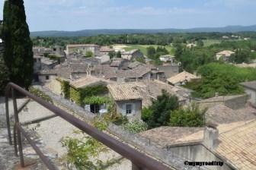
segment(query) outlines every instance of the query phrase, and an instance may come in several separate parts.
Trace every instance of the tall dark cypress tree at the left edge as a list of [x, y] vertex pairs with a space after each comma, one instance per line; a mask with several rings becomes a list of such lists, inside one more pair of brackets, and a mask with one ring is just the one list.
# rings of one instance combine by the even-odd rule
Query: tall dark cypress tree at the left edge
[[23, 0], [5, 0], [3, 39], [10, 80], [21, 87], [29, 87], [33, 79], [33, 44]]

